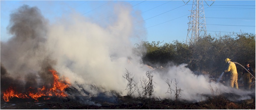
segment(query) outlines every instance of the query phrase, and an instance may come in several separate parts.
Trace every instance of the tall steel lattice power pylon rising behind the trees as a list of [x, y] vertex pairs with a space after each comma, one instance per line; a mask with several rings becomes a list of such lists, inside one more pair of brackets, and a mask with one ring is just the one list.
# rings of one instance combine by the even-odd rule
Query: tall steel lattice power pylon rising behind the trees
[[204, 18], [204, 5], [202, 0], [194, 0], [192, 5], [192, 10], [190, 20], [189, 20], [189, 29], [187, 34], [186, 43], [195, 44], [198, 39], [202, 36], [207, 36], [206, 24]]

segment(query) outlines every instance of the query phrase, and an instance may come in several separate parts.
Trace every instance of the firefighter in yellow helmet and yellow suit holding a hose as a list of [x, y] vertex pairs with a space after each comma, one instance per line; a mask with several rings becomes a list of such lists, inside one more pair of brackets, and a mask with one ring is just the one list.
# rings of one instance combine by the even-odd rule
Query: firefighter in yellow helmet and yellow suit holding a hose
[[234, 62], [231, 62], [230, 60], [231, 59], [229, 59], [229, 58], [225, 59], [225, 62], [228, 63], [229, 66], [224, 72], [226, 73], [226, 72], [230, 71], [230, 83], [229, 83], [229, 85], [230, 85], [230, 87], [233, 88], [234, 84], [235, 84], [236, 89], [238, 89], [236, 64]]

